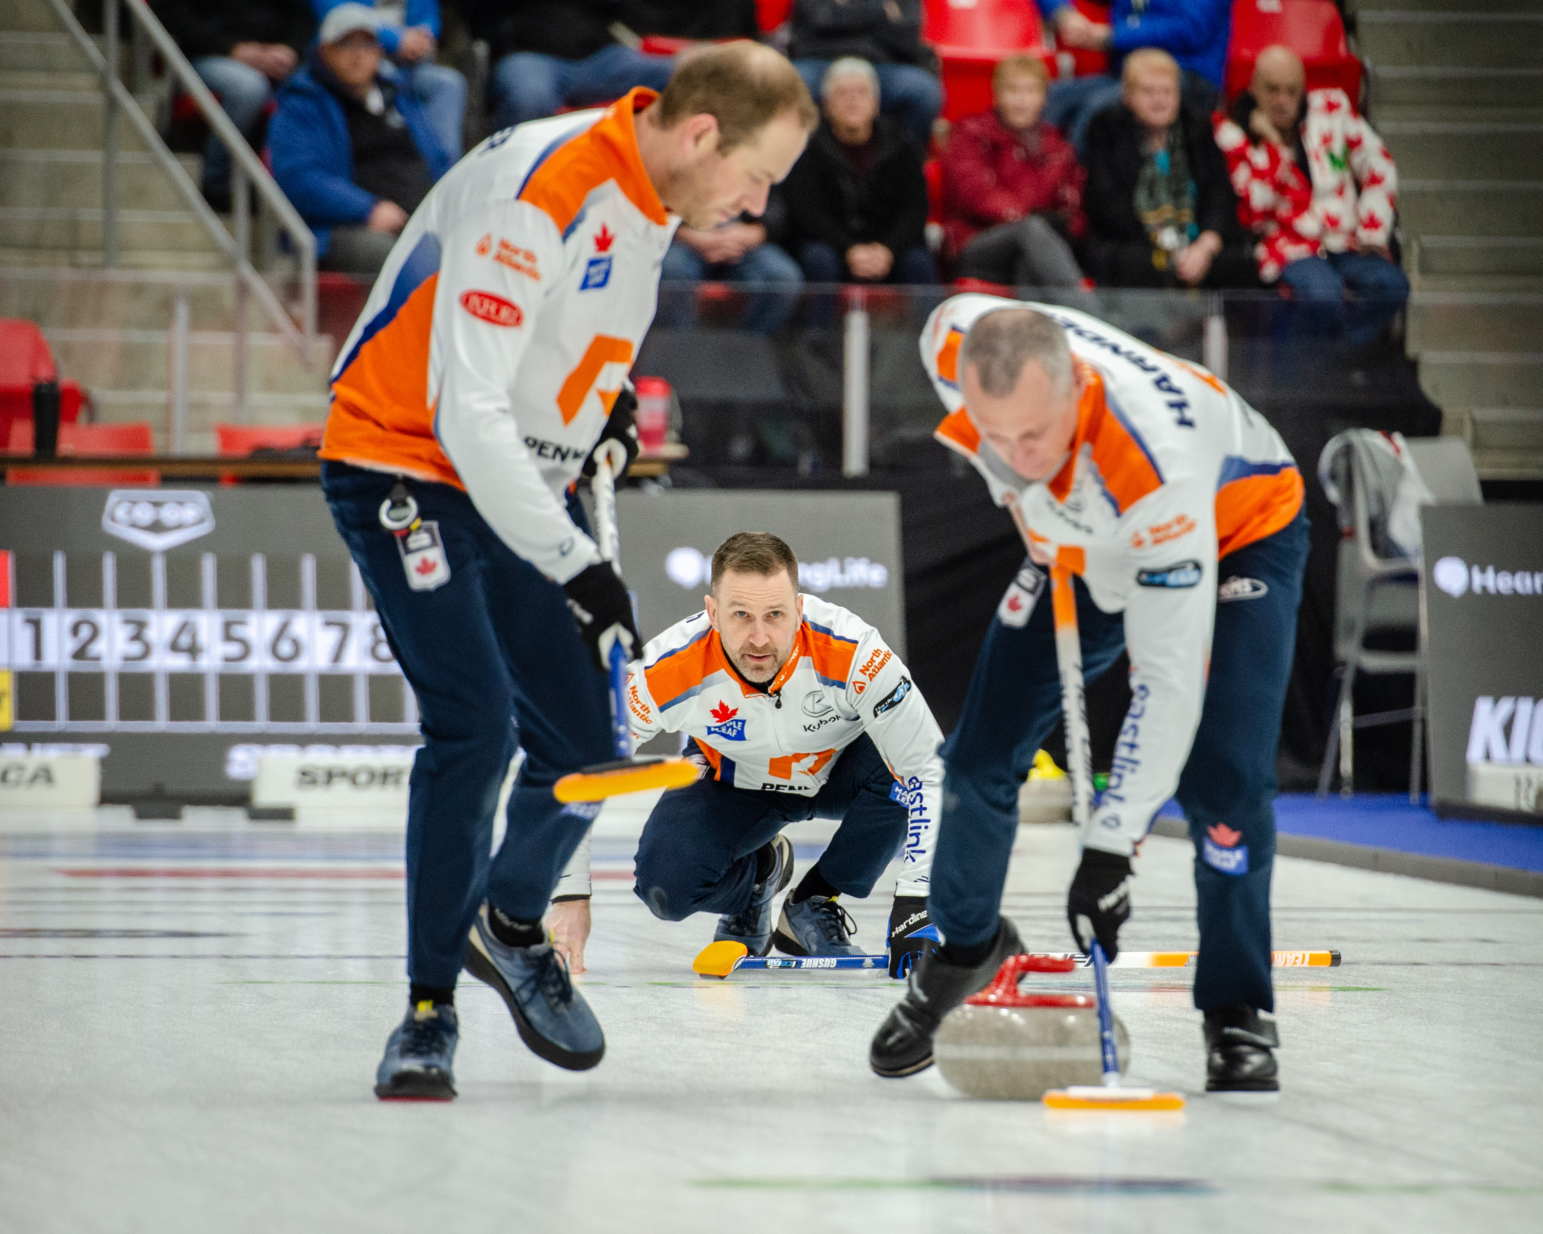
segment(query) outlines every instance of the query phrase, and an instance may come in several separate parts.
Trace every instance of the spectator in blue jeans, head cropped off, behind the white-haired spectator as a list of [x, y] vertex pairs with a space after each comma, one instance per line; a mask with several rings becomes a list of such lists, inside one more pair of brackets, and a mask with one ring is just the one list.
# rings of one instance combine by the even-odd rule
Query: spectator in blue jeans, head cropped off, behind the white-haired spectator
[[943, 110], [943, 83], [921, 43], [921, 0], [795, 0], [788, 57], [809, 93], [819, 91], [833, 60], [856, 57], [878, 74], [886, 116], [926, 150]]

